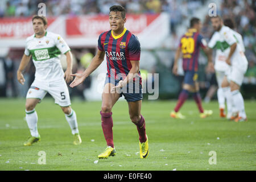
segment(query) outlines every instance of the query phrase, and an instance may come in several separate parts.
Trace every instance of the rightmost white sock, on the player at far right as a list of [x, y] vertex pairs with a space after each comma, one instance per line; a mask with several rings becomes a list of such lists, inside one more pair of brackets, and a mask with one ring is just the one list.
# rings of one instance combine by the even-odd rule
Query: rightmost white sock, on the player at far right
[[233, 101], [233, 112], [239, 112], [239, 116], [242, 118], [246, 118], [245, 114], [245, 103], [243, 101], [243, 96], [239, 90], [234, 90], [232, 93], [232, 101]]

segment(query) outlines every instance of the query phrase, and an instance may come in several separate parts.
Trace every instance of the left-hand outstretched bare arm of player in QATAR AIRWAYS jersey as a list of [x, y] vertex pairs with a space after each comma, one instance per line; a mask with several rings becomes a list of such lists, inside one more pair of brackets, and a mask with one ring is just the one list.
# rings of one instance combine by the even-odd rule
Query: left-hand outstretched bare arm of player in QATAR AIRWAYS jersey
[[71, 74], [71, 76], [75, 76], [75, 79], [69, 85], [71, 88], [74, 88], [77, 85], [80, 85], [86, 77], [90, 75], [104, 60], [105, 52], [98, 50], [96, 55], [93, 57], [92, 62], [90, 63], [89, 67], [85, 69], [83, 73], [75, 73]]

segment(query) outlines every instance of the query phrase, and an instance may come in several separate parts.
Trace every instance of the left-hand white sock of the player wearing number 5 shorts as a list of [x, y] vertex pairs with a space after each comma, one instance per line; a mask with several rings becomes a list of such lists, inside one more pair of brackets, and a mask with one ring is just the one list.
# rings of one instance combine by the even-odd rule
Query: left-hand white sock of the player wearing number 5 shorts
[[39, 137], [38, 114], [36, 113], [35, 109], [30, 111], [26, 110], [26, 121], [32, 137]]

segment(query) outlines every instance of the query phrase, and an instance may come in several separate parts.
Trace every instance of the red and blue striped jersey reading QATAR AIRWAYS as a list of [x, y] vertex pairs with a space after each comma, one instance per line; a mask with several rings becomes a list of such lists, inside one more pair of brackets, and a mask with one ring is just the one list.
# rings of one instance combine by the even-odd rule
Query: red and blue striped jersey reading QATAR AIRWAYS
[[[128, 75], [131, 69], [131, 61], [139, 61], [141, 57], [141, 44], [137, 36], [131, 34], [126, 28], [122, 34], [114, 36], [112, 30], [103, 32], [98, 38], [98, 49], [105, 51], [108, 73], [110, 77], [114, 73], [115, 80], [121, 80]], [[141, 72], [139, 72], [141, 84]]]

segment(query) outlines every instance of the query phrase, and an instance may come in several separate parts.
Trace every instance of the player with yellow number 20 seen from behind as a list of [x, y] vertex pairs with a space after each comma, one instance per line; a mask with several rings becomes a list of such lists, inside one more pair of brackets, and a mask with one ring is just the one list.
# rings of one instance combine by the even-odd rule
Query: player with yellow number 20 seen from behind
[[197, 107], [200, 112], [200, 118], [208, 117], [212, 114], [212, 110], [204, 110], [201, 104], [201, 96], [199, 93], [199, 83], [197, 81], [197, 71], [198, 71], [198, 58], [199, 58], [199, 48], [203, 48], [204, 52], [208, 57], [208, 66], [213, 67], [212, 59], [209, 54], [209, 49], [207, 48], [207, 42], [203, 39], [200, 34], [201, 21], [198, 18], [192, 18], [190, 20], [190, 28], [181, 37], [180, 45], [177, 48], [173, 73], [177, 75], [177, 62], [179, 60], [180, 54], [182, 52], [183, 58], [183, 69], [184, 69], [184, 81], [183, 90], [179, 95], [179, 100], [174, 111], [171, 111], [172, 118], [184, 119], [185, 116], [179, 112], [181, 106], [187, 100], [189, 93], [193, 94], [193, 98], [196, 101]]

